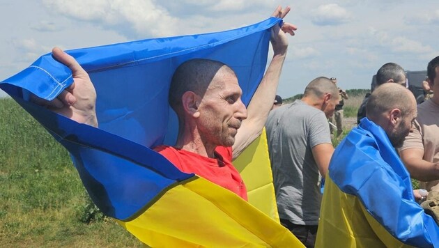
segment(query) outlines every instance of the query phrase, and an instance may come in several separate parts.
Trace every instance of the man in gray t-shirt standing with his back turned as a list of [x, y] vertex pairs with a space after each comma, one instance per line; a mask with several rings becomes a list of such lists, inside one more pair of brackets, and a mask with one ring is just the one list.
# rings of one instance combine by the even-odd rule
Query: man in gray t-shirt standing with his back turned
[[314, 247], [321, 176], [334, 151], [328, 118], [338, 102], [337, 86], [318, 77], [301, 100], [272, 110], [265, 124], [281, 223], [307, 247]]

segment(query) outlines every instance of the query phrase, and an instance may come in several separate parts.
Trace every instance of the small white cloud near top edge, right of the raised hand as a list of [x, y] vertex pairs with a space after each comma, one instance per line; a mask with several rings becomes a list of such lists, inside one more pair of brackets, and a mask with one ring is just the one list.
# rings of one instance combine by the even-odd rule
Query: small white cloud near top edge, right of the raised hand
[[351, 20], [351, 14], [348, 13], [348, 10], [337, 3], [318, 6], [312, 14], [314, 15], [311, 17], [312, 22], [318, 26], [339, 25]]

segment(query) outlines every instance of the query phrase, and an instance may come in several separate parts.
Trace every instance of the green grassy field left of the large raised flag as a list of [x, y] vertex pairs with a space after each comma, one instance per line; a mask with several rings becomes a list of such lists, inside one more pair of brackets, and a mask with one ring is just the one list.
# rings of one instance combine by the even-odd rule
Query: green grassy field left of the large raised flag
[[94, 206], [67, 151], [0, 98], [0, 246], [142, 247]]

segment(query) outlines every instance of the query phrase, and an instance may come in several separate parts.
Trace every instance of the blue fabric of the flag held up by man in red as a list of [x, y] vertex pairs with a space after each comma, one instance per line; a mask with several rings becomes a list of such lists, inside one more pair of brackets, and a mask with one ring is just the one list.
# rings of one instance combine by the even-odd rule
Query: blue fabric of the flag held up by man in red
[[271, 17], [231, 31], [66, 51], [89, 73], [96, 88], [99, 129], [26, 100], [28, 91], [53, 100], [72, 84], [71, 71], [51, 54], [4, 80], [0, 88], [69, 150], [100, 210], [127, 220], [169, 187], [194, 177], [150, 149], [176, 139], [178, 122], [168, 104], [174, 70], [188, 59], [222, 61], [235, 70], [242, 101], [248, 104], [265, 71], [270, 28], [280, 22]]

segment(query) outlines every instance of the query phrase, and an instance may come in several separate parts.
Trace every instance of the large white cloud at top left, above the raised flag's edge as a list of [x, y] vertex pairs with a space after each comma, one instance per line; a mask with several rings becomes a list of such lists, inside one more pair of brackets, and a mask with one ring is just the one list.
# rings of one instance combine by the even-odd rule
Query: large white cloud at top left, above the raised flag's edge
[[178, 19], [152, 0], [44, 0], [47, 8], [107, 29], [120, 29], [131, 38], [171, 36], [178, 33]]

